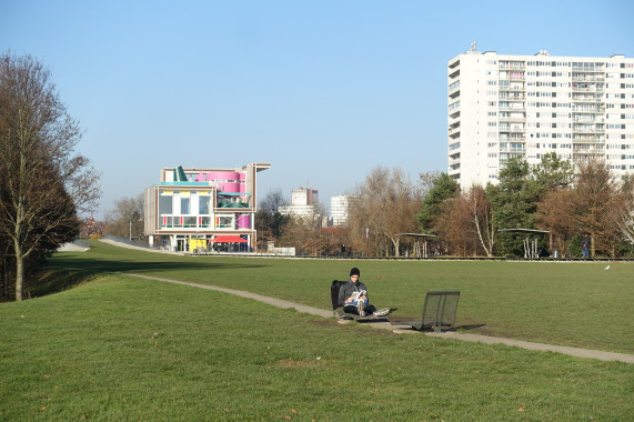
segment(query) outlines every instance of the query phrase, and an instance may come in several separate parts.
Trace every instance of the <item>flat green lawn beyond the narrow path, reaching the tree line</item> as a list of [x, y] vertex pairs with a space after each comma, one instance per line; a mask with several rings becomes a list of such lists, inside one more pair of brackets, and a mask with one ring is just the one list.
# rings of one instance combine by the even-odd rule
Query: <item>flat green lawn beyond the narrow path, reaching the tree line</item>
[[456, 323], [470, 332], [634, 352], [634, 264], [605, 262], [359, 261], [180, 257], [93, 242], [54, 268], [124, 271], [239, 289], [330, 309], [330, 283], [350, 268], [392, 320], [416, 320], [429, 290], [461, 290]]

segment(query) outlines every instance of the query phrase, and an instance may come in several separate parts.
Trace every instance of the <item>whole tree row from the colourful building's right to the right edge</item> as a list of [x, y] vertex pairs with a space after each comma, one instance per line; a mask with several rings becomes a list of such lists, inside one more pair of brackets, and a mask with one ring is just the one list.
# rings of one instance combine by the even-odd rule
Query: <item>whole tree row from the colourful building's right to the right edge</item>
[[[282, 217], [281, 192], [262, 201], [259, 237], [300, 253], [333, 254], [344, 250], [395, 255], [414, 249], [415, 237], [434, 235], [429, 250], [460, 257], [522, 257], [525, 234], [502, 229], [545, 231], [540, 255], [558, 251], [580, 255], [584, 237], [591, 255], [632, 253], [634, 183], [616, 181], [602, 160], [575, 163], [545, 154], [539, 165], [511, 159], [500, 183], [461, 190], [446, 173], [430, 172], [412, 181], [401, 169], [375, 168], [352, 192], [348, 224], [324, 230], [321, 219]], [[344, 249], [345, 247], [345, 249]]]

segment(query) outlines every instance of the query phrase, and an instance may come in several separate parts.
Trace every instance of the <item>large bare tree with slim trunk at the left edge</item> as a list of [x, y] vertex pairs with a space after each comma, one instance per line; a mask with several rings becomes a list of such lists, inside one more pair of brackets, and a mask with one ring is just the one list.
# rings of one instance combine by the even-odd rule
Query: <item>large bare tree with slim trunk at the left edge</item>
[[47, 242], [68, 240], [77, 215], [97, 205], [99, 177], [74, 154], [80, 139], [49, 70], [29, 56], [0, 56], [0, 228], [14, 255], [16, 300], [24, 260]]

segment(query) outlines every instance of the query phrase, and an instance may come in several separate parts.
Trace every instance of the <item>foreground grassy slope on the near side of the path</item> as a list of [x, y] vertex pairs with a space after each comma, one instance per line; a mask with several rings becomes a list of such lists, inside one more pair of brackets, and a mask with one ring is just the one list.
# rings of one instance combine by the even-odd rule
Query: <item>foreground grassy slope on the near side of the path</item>
[[339, 325], [124, 275], [2, 304], [0, 320], [0, 420], [622, 421], [634, 411], [630, 364]]

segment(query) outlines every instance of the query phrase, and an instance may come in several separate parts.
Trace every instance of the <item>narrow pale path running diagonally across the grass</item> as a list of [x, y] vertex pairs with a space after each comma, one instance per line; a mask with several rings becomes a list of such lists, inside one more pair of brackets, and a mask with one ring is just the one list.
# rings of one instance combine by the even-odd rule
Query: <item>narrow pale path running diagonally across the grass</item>
[[[290, 301], [283, 300], [283, 299], [264, 297], [262, 294], [245, 292], [242, 290], [218, 288], [214, 285], [190, 283], [187, 281], [161, 279], [158, 277], [140, 275], [140, 274], [132, 274], [132, 273], [124, 273], [124, 272], [122, 272], [120, 274], [137, 277], [137, 278], [141, 278], [141, 279], [147, 279], [147, 280], [163, 281], [163, 282], [173, 283], [173, 284], [190, 285], [192, 288], [199, 288], [199, 289], [214, 290], [214, 291], [219, 291], [219, 292], [234, 294], [234, 295], [238, 295], [241, 298], [253, 299], [253, 300], [256, 300], [259, 302], [263, 302], [263, 303], [266, 303], [266, 304], [270, 304], [273, 307], [278, 307], [278, 308], [282, 308], [282, 309], [294, 309], [298, 312], [309, 313], [309, 314], [318, 315], [321, 318], [334, 318], [332, 311], [326, 311], [326, 310], [319, 309], [319, 308], [299, 304], [299, 303], [290, 302]], [[341, 321], [341, 322], [343, 322], [343, 321]], [[345, 321], [345, 322], [349, 322], [349, 321]], [[395, 333], [417, 333], [417, 334], [421, 334], [420, 331], [406, 329], [404, 325], [392, 325], [390, 322], [364, 322], [364, 325], [371, 325], [371, 326], [376, 328], [376, 329], [390, 330], [390, 331], [395, 332]], [[626, 353], [612, 353], [612, 352], [603, 352], [600, 350], [570, 348], [570, 346], [543, 344], [543, 343], [532, 343], [532, 342], [521, 341], [521, 340], [501, 339], [501, 338], [494, 338], [494, 336], [489, 336], [489, 335], [479, 335], [479, 334], [465, 334], [465, 333], [457, 333], [457, 332], [453, 332], [453, 331], [443, 332], [443, 333], [425, 332], [424, 335], [437, 336], [437, 338], [451, 339], [451, 340], [471, 341], [471, 342], [486, 343], [486, 344], [506, 344], [509, 346], [514, 346], [514, 348], [522, 348], [522, 349], [537, 350], [537, 351], [549, 351], [549, 352], [555, 352], [555, 353], [564, 353], [564, 354], [570, 354], [572, 356], [597, 359], [601, 361], [620, 361], [620, 362], [626, 362], [626, 363], [634, 363], [634, 354], [626, 354]]]

